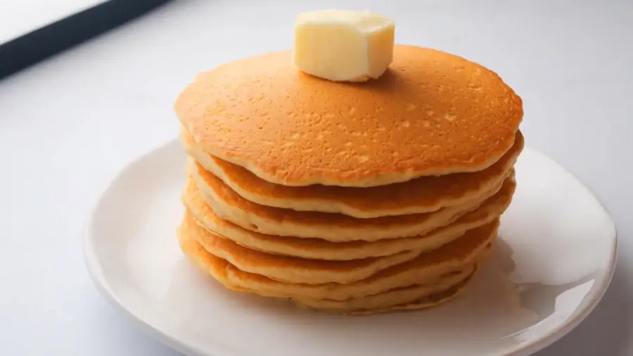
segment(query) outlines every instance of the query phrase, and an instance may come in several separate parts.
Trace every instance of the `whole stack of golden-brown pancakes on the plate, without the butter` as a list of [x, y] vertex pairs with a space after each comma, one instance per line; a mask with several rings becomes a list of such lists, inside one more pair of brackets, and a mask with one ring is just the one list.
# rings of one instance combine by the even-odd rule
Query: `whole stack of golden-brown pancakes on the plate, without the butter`
[[226, 288], [319, 310], [459, 294], [511, 203], [520, 98], [481, 65], [416, 46], [359, 84], [299, 72], [291, 56], [221, 65], [177, 99], [181, 249]]

